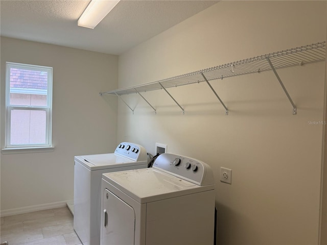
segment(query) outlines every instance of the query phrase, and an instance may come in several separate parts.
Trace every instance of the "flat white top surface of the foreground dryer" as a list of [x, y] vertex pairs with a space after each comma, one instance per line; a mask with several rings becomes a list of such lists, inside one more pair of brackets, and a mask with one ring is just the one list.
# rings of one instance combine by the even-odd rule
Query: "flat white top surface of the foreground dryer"
[[154, 168], [106, 173], [102, 178], [141, 204], [214, 189], [214, 185], [200, 186]]

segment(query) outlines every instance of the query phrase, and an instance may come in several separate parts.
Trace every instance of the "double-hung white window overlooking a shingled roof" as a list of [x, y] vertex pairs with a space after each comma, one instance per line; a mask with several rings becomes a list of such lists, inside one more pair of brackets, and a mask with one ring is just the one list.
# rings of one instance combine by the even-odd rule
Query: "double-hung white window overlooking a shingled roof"
[[6, 148], [51, 146], [52, 67], [6, 63]]

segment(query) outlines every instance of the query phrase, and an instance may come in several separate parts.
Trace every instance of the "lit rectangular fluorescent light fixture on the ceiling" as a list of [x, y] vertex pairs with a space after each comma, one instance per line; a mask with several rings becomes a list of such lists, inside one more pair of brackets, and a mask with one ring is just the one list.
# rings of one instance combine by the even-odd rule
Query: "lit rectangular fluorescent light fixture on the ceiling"
[[91, 0], [77, 21], [77, 26], [94, 29], [120, 0]]

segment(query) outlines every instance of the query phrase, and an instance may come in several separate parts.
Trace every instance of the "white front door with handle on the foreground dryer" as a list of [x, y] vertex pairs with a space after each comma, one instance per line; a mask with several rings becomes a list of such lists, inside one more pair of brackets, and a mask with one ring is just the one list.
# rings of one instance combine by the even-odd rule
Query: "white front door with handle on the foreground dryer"
[[104, 191], [101, 245], [133, 245], [135, 231], [134, 209], [111, 193]]

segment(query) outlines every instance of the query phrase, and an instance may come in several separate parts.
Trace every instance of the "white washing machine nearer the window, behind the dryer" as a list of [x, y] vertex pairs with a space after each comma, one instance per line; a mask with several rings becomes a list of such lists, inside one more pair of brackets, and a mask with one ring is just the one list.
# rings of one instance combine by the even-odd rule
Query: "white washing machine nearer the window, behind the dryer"
[[147, 166], [145, 148], [130, 142], [120, 143], [114, 153], [75, 156], [74, 229], [84, 245], [100, 244], [102, 174]]

